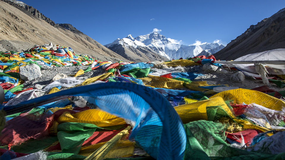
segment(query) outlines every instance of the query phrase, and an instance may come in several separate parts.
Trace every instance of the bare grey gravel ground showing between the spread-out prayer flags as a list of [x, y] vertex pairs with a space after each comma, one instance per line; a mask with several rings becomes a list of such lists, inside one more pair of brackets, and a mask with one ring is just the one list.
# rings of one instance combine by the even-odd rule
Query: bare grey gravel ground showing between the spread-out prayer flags
[[[34, 79], [32, 81], [25, 81], [24, 83], [24, 89], [29, 88], [29, 87], [34, 87], [35, 84], [40, 84], [40, 85], [48, 85], [50, 84], [50, 81], [52, 80], [52, 78], [57, 74], [57, 73], [64, 73], [66, 74], [68, 77], [73, 77], [72, 75], [74, 75], [75, 73], [77, 73], [77, 71], [79, 71], [80, 69], [85, 70], [86, 68], [88, 68], [88, 66], [62, 66], [62, 67], [51, 67], [51, 68], [42, 68], [41, 69], [41, 73], [42, 73], [42, 77], [39, 77], [37, 79]], [[205, 71], [202, 70], [202, 65], [200, 66], [194, 66], [194, 67], [183, 67], [184, 71], [187, 72], [192, 72], [192, 71], [196, 71], [195, 73], [201, 73], [204, 76], [199, 76], [196, 79], [194, 79], [193, 81], [207, 81], [208, 84], [213, 84], [213, 85], [229, 85], [229, 87], [239, 87], [239, 88], [244, 88], [244, 89], [250, 89], [250, 88], [256, 88], [256, 87], [261, 87], [264, 86], [264, 84], [262, 83], [262, 80], [259, 79], [253, 79], [251, 77], [246, 77], [245, 81], [243, 82], [234, 82], [231, 81], [231, 75], [236, 73], [237, 71], [234, 70], [230, 70], [229, 73], [216, 73], [216, 72], [212, 72], [212, 73], [207, 73]], [[104, 69], [96, 69], [96, 70], [92, 70], [90, 72], [84, 73], [83, 75], [77, 76], [77, 79], [80, 80], [85, 80], [94, 76], [98, 76], [105, 73]], [[277, 78], [278, 80], [282, 80], [281, 78]], [[276, 84], [274, 83], [270, 83], [269, 86], [270, 89], [273, 89], [275, 91], [282, 91], [284, 89], [278, 87]], [[62, 89], [66, 89], [66, 87], [62, 87]], [[61, 89], [61, 90], [62, 90]]]

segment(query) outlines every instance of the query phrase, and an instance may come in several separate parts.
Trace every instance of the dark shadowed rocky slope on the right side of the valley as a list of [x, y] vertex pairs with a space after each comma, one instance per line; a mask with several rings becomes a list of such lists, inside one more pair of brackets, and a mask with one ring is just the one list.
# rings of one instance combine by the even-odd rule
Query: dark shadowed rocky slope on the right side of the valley
[[221, 60], [235, 60], [251, 53], [285, 48], [285, 8], [232, 40], [214, 56]]

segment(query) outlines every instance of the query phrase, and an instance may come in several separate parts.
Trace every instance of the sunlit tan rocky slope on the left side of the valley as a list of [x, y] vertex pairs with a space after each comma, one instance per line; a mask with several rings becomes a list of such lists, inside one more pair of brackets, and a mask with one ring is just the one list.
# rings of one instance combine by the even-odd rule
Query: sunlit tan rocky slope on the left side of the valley
[[[38, 45], [52, 42], [69, 46], [77, 54], [92, 55], [99, 60], [128, 61], [82, 32], [74, 33], [55, 24], [38, 10], [20, 1], [0, 1], [0, 23], [0, 40]], [[8, 50], [17, 51], [12, 47]]]

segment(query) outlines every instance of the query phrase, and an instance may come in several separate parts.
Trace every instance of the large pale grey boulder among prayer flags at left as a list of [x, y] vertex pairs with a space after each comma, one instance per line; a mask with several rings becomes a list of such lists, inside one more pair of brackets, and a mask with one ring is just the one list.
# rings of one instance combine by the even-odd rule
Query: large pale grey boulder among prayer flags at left
[[42, 76], [39, 66], [33, 63], [24, 67], [19, 67], [19, 73], [20, 78], [24, 81], [31, 81]]

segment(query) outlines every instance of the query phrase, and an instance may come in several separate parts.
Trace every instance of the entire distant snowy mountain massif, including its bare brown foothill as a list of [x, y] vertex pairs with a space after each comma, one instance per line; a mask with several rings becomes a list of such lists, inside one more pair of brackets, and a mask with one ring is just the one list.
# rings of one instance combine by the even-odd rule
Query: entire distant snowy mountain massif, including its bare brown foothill
[[137, 36], [128, 35], [123, 39], [116, 39], [113, 43], [104, 45], [113, 52], [131, 60], [171, 60], [195, 57], [197, 55], [212, 55], [225, 46], [219, 43], [203, 43], [201, 45], [180, 45], [172, 43], [165, 36], [153, 33]]

